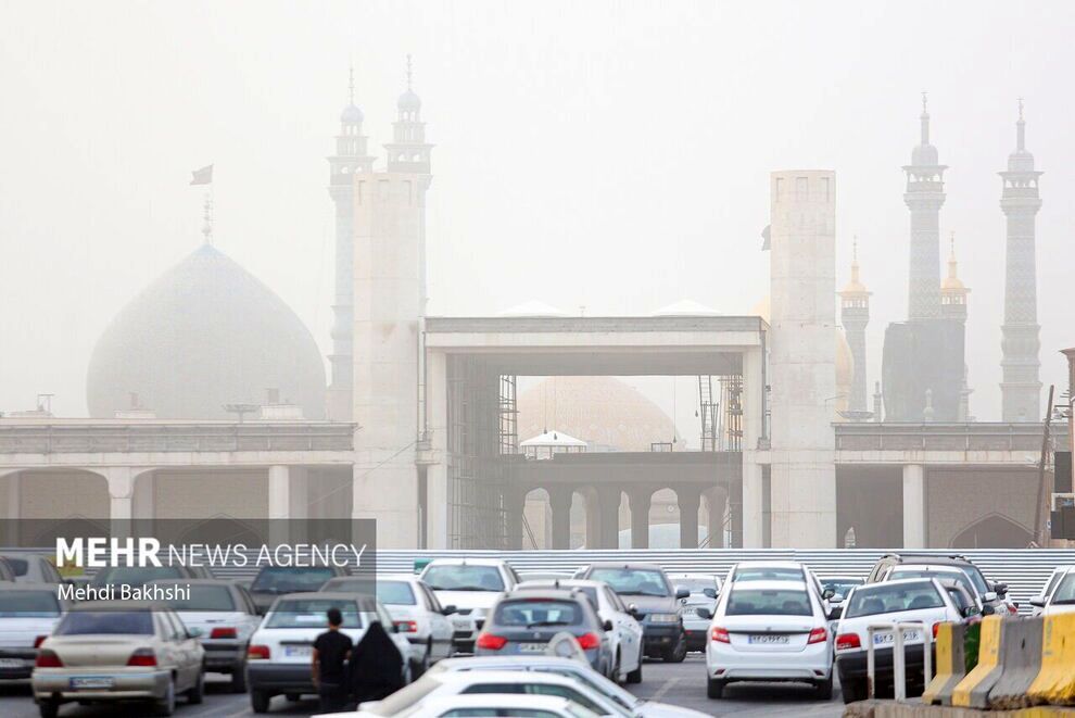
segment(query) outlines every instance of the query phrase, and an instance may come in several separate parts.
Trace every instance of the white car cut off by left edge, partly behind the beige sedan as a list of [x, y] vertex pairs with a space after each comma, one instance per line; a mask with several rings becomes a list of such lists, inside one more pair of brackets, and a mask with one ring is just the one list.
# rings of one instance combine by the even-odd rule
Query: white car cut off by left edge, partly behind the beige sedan
[[71, 609], [52, 583], [0, 583], [0, 680], [30, 677], [37, 646]]

